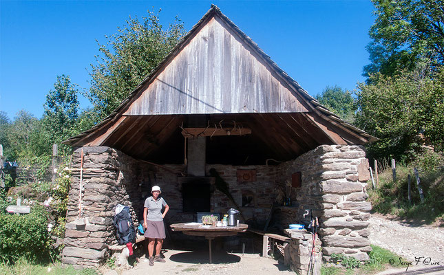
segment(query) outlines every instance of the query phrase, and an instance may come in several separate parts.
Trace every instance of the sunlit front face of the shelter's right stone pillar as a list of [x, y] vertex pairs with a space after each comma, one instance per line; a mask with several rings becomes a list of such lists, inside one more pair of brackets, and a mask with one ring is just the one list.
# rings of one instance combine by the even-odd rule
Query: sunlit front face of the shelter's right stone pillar
[[368, 159], [362, 146], [322, 146], [320, 188], [323, 213], [321, 241], [324, 259], [333, 253], [369, 259], [368, 219], [372, 208], [366, 192], [370, 179]]

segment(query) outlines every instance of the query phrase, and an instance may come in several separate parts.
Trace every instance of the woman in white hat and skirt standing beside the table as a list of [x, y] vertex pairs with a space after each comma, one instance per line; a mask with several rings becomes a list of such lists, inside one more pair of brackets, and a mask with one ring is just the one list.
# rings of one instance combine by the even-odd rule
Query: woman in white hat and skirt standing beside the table
[[[165, 199], [159, 197], [160, 187], [153, 186], [151, 188], [151, 197], [145, 199], [143, 208], [143, 227], [145, 228], [145, 238], [148, 238], [148, 254], [149, 265], [153, 266], [154, 262], [165, 263], [165, 260], [160, 256], [162, 250], [163, 239], [165, 239], [165, 225], [163, 225], [163, 218], [169, 210]], [[165, 207], [162, 213], [162, 207]], [[156, 243], [156, 256], [153, 257], [154, 244]]]

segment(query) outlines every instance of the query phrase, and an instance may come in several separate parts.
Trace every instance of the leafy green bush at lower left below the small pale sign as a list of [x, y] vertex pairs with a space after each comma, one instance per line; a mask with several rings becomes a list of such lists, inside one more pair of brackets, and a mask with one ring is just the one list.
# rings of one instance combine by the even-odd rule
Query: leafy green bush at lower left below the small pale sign
[[34, 206], [30, 214], [0, 215], [0, 261], [14, 263], [20, 257], [48, 259], [52, 240], [47, 232], [47, 211]]

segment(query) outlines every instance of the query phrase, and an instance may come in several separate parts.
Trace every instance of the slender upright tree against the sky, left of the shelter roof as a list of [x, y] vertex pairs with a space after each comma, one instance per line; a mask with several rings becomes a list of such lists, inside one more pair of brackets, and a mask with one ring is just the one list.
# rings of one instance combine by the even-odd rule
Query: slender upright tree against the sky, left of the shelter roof
[[78, 119], [78, 90], [71, 83], [70, 77], [57, 76], [54, 83], [54, 90], [50, 90], [46, 95], [46, 102], [43, 117], [45, 140], [47, 141], [47, 151], [51, 152], [53, 143], [59, 144], [62, 152], [68, 153], [70, 148], [62, 145], [61, 142], [76, 133]]

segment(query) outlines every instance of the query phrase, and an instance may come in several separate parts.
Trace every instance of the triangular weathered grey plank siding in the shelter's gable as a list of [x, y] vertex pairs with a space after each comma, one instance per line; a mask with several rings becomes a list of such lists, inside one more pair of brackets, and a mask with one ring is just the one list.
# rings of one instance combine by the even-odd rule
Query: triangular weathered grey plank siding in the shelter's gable
[[213, 17], [125, 115], [306, 112], [288, 85]]

